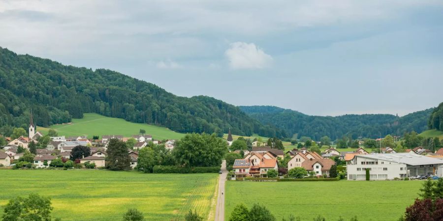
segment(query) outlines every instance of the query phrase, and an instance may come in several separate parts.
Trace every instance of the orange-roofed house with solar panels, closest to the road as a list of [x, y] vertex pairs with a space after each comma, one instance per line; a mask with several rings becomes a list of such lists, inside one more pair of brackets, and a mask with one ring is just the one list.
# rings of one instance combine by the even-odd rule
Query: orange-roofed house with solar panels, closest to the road
[[269, 169], [278, 170], [276, 159], [261, 158], [259, 161], [254, 159], [236, 159], [232, 166], [234, 175], [232, 178], [240, 178], [245, 176], [266, 176]]

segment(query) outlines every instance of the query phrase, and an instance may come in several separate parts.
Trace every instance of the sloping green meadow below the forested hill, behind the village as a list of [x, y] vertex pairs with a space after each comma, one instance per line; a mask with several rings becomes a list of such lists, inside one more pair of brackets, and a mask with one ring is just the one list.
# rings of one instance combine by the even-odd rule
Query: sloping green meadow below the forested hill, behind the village
[[[88, 136], [94, 135], [123, 135], [130, 137], [138, 134], [140, 129], [144, 129], [146, 134], [152, 135], [154, 139], [180, 139], [184, 134], [171, 131], [164, 127], [148, 124], [132, 123], [124, 119], [106, 117], [96, 113], [85, 113], [81, 119], [72, 119], [71, 124], [52, 125], [60, 136]], [[37, 131], [47, 131], [45, 128], [37, 128]]]

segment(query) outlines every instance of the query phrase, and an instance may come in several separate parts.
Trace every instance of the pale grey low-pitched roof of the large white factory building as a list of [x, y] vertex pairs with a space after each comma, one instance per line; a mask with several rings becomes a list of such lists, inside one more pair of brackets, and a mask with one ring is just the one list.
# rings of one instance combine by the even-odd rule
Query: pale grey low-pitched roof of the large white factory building
[[443, 164], [442, 160], [435, 159], [432, 157], [422, 156], [422, 155], [418, 155], [418, 154], [414, 154], [414, 153], [365, 154], [365, 155], [356, 155], [355, 157], [390, 161], [390, 162], [395, 162], [395, 163], [407, 164], [407, 165], [411, 165], [411, 166]]

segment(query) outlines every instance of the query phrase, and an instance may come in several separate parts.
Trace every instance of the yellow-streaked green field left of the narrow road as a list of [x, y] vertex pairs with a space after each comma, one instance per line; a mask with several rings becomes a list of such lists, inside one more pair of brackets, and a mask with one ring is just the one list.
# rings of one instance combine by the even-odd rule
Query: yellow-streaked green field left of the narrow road
[[146, 220], [183, 220], [190, 209], [214, 217], [218, 175], [0, 169], [0, 216], [10, 198], [39, 193], [63, 221], [120, 221], [128, 208]]

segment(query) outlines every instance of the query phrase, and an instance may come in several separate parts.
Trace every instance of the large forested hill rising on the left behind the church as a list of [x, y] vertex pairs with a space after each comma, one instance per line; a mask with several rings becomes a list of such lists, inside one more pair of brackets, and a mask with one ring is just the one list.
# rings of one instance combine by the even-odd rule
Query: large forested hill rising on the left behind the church
[[37, 126], [95, 112], [176, 132], [221, 134], [231, 128], [238, 135], [284, 136], [214, 98], [179, 97], [115, 71], [66, 66], [0, 48], [0, 134], [10, 134], [11, 126], [27, 128], [31, 108]]

